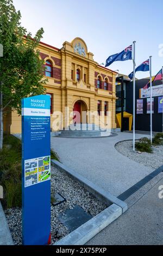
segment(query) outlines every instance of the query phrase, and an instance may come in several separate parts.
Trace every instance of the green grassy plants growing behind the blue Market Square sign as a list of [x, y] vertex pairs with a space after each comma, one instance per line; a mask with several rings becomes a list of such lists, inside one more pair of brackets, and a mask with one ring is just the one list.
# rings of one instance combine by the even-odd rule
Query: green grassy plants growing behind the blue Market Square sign
[[[51, 159], [59, 161], [51, 150]], [[12, 135], [4, 135], [3, 150], [0, 152], [0, 185], [3, 186], [5, 209], [22, 205], [22, 143]]]

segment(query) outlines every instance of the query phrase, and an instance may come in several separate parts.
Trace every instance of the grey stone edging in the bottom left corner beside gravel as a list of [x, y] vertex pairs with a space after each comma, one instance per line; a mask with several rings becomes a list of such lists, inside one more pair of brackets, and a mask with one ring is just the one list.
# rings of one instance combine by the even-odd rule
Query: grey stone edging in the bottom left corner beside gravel
[[0, 245], [14, 245], [8, 222], [0, 201]]

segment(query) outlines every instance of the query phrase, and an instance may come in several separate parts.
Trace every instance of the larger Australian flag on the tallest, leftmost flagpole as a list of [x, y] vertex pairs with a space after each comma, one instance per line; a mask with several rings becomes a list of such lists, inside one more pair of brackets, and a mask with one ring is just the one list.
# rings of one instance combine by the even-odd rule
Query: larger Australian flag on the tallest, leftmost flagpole
[[108, 59], [106, 59], [105, 66], [109, 66], [113, 62], [117, 62], [118, 60], [121, 62], [124, 62], [124, 60], [132, 59], [132, 51], [133, 51], [133, 46], [130, 45], [126, 49], [124, 49], [122, 52], [109, 56]]

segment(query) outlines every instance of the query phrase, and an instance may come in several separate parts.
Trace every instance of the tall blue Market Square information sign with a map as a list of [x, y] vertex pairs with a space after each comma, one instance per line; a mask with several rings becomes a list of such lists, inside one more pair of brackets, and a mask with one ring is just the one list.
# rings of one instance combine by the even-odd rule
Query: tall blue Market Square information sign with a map
[[51, 240], [50, 96], [22, 99], [23, 245]]

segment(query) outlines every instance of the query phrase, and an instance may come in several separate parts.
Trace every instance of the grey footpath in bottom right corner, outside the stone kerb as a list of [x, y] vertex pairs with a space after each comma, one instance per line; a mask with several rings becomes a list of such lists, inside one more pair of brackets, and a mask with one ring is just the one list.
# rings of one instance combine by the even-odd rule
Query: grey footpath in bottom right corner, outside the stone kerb
[[87, 245], [163, 245], [163, 198], [158, 195], [161, 185], [163, 178]]

